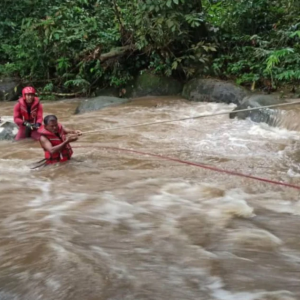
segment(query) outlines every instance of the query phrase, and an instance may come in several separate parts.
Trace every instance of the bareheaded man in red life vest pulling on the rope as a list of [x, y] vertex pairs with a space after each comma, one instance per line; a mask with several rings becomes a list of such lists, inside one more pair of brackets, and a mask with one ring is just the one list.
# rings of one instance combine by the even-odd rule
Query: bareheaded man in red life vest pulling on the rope
[[[77, 141], [80, 130], [64, 128], [54, 115], [46, 116], [44, 125], [38, 130], [40, 144], [45, 151], [46, 164], [64, 162], [71, 159], [73, 150], [70, 143]], [[66, 134], [71, 134], [66, 136]]]

